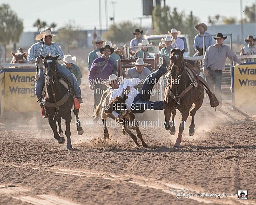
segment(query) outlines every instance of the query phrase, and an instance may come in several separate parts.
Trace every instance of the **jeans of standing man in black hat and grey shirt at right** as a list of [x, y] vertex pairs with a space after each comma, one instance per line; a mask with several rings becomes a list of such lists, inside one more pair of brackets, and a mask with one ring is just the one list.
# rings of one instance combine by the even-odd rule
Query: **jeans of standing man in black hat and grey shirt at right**
[[222, 71], [221, 70], [209, 70], [209, 76], [205, 76], [206, 81], [211, 89], [211, 92], [216, 94], [219, 103], [222, 104]]

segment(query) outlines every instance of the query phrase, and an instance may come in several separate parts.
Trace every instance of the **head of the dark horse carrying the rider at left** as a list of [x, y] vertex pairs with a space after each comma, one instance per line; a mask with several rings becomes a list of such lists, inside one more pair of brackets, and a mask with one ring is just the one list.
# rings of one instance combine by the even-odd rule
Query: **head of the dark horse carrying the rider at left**
[[54, 83], [55, 78], [57, 76], [58, 68], [56, 64], [56, 60], [60, 55], [55, 57], [47, 54], [45, 57], [41, 55], [41, 59], [43, 60], [43, 68], [44, 68], [44, 77], [46, 83]]

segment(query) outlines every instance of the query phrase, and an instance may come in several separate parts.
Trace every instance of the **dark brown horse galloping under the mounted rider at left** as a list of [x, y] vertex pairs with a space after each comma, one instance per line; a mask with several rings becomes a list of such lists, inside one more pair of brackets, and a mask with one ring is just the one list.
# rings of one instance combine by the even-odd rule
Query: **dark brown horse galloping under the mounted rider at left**
[[[45, 77], [45, 88], [43, 91], [43, 104], [45, 111], [48, 113], [49, 118], [48, 122], [54, 132], [54, 138], [58, 141], [59, 144], [65, 142], [63, 132], [61, 129], [61, 118], [66, 121], [66, 130], [65, 135], [67, 136], [67, 149], [72, 149], [71, 145], [71, 132], [70, 132], [70, 123], [71, 123], [71, 109], [73, 106], [73, 98], [70, 91], [70, 86], [65, 84], [63, 80], [58, 79], [57, 77], [57, 63], [55, 60], [59, 56], [52, 57], [49, 54], [46, 57], [41, 56], [43, 59], [43, 69]], [[81, 123], [78, 119], [78, 111], [74, 112], [76, 115], [76, 126], [78, 134], [83, 134], [83, 129], [81, 128]], [[59, 132], [57, 132], [56, 121], [59, 125]], [[61, 135], [61, 136], [60, 136]]]

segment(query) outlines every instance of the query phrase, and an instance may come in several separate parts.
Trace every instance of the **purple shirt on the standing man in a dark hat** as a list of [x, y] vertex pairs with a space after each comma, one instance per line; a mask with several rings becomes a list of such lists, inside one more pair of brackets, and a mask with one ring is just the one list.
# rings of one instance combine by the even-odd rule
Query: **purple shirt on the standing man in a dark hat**
[[[111, 59], [108, 59], [108, 65], [96, 66], [95, 64], [105, 61], [104, 58], [99, 57], [96, 58], [91, 66], [89, 71], [89, 84], [92, 82], [99, 84], [101, 80], [108, 79], [109, 75], [113, 74], [114, 72], [114, 62]], [[104, 70], [102, 71], [103, 67], [105, 66]]]

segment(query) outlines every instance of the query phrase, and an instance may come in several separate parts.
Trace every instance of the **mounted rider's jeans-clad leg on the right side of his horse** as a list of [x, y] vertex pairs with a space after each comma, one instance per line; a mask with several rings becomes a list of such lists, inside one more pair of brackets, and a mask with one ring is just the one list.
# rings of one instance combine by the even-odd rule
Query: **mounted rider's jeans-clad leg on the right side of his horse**
[[81, 90], [78, 86], [76, 79], [74, 78], [74, 75], [70, 73], [70, 71], [67, 70], [67, 68], [61, 66], [60, 64], [57, 63], [57, 66], [58, 66], [58, 76], [68, 79], [68, 81], [71, 84], [71, 87], [74, 89], [75, 97], [81, 98]]

